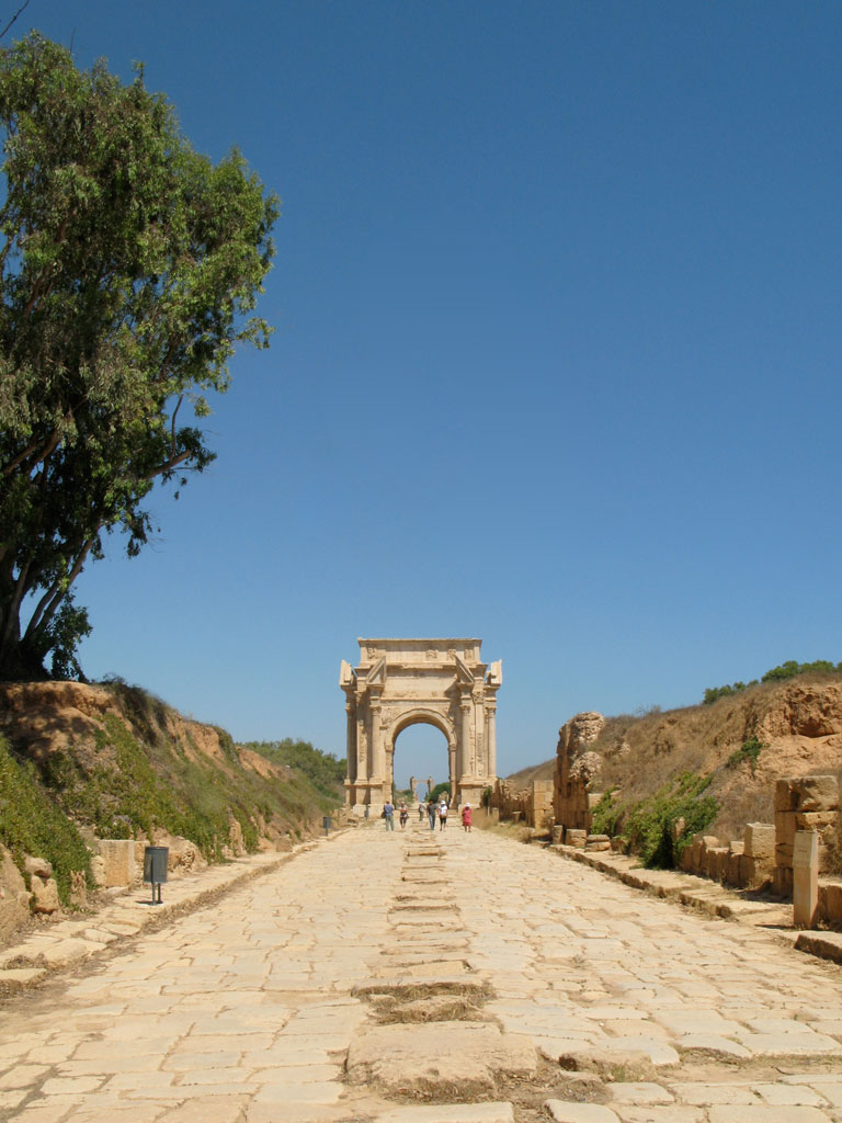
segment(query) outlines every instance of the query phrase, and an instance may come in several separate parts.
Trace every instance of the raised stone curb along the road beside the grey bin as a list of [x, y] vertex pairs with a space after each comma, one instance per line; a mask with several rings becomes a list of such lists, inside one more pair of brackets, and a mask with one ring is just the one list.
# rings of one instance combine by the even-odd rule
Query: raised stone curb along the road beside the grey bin
[[[167, 882], [165, 893], [168, 900], [161, 905], [152, 905], [148, 887], [132, 885], [84, 919], [66, 919], [42, 932], [31, 933], [21, 943], [0, 951], [0, 1002], [37, 987], [46, 979], [55, 978], [62, 971], [79, 967], [106, 951], [118, 950], [127, 938], [157, 932], [179, 917], [213, 904], [232, 889], [274, 873], [299, 855], [345, 833], [346, 829], [339, 828], [327, 837], [308, 839], [289, 851], [249, 855]], [[138, 896], [141, 892], [145, 898]]]

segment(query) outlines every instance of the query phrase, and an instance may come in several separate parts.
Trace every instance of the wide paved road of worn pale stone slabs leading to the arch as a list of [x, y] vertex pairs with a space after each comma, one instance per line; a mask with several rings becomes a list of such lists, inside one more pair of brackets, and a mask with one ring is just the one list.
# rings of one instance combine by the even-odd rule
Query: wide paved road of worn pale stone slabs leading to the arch
[[457, 823], [346, 831], [85, 970], [0, 1013], [0, 1117], [842, 1121], [839, 968]]

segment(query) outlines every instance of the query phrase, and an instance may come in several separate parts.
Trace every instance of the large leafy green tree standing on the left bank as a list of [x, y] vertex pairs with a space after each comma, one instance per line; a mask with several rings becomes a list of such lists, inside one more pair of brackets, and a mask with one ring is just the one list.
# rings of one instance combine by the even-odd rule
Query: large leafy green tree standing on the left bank
[[[213, 458], [204, 394], [228, 385], [273, 256], [276, 200], [232, 152], [196, 154], [143, 73], [79, 70], [38, 34], [0, 52], [0, 677], [77, 670], [71, 586], [144, 500]], [[182, 423], [185, 419], [187, 423]]]

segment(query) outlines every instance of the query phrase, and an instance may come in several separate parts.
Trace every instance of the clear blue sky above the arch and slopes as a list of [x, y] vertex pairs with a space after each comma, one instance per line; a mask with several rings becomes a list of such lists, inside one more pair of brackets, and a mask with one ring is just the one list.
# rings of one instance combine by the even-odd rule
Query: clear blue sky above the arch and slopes
[[[12, 10], [13, 10], [12, 6]], [[502, 774], [577, 711], [842, 659], [842, 4], [31, 0], [283, 200], [219, 456], [79, 587], [116, 672], [342, 756], [358, 636], [478, 636]], [[441, 778], [408, 731], [399, 779]]]

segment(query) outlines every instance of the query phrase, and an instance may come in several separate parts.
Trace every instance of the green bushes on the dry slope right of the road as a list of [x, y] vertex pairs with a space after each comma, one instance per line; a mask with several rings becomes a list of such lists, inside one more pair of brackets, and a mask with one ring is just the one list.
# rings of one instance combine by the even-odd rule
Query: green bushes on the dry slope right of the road
[[[616, 834], [622, 830], [630, 849], [644, 866], [671, 868], [693, 834], [716, 818], [719, 801], [704, 794], [712, 778], [683, 773], [662, 784], [653, 795], [625, 805], [614, 805], [611, 795], [605, 795], [594, 811], [594, 829], [598, 822], [601, 833]], [[674, 824], [679, 819], [685, 825], [676, 842]]]

